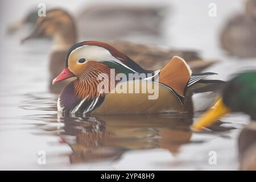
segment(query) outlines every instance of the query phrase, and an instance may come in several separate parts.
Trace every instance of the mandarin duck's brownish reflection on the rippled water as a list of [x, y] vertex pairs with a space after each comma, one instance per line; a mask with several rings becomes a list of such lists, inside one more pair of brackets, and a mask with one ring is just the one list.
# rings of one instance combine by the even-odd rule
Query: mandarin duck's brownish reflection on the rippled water
[[192, 118], [187, 115], [58, 118], [65, 124], [59, 134], [61, 140], [73, 151], [69, 155], [71, 163], [117, 160], [126, 151], [152, 148], [165, 148], [176, 154], [192, 135]]

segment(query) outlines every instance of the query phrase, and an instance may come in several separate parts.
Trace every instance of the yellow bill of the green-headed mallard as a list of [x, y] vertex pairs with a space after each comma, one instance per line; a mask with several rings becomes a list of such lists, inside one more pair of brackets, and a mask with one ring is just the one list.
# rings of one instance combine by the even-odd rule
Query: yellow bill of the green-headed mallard
[[213, 109], [208, 110], [203, 114], [198, 121], [192, 125], [192, 130], [200, 131], [203, 127], [209, 126], [216, 122], [222, 115], [229, 113], [230, 109], [225, 106], [222, 99], [213, 106]]

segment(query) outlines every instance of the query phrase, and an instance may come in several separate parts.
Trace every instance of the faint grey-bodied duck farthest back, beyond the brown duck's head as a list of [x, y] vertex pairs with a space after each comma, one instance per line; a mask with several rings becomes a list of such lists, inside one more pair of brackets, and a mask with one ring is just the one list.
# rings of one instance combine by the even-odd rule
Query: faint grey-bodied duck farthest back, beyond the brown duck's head
[[[167, 6], [87, 5], [74, 19], [81, 38], [106, 40], [129, 35], [160, 37], [168, 9]], [[56, 10], [65, 13], [64, 10]], [[37, 19], [38, 9], [32, 10], [25, 18], [11, 24], [7, 32], [13, 34], [27, 24], [35, 27]], [[104, 30], [104, 34], [101, 30]]]

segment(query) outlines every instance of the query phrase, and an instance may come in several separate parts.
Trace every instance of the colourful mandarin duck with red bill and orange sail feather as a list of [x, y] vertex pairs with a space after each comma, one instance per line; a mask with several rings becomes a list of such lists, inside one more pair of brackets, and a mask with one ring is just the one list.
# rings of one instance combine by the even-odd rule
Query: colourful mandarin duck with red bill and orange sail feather
[[[98, 90], [98, 76], [105, 73], [110, 82], [111, 69], [114, 74], [151, 74], [141, 80], [114, 80], [115, 88], [147, 88], [152, 80], [153, 87], [159, 86], [157, 99], [146, 93], [101, 93]], [[191, 91], [209, 92], [217, 90], [222, 81], [201, 80], [215, 73], [192, 74], [188, 64], [180, 57], [173, 59], [160, 71], [143, 69], [130, 57], [109, 44], [87, 41], [75, 44], [67, 53], [65, 69], [53, 80], [53, 84], [70, 77], [77, 77], [61, 92], [57, 108], [64, 113], [84, 114], [147, 114], [147, 113], [187, 113], [191, 105]], [[159, 78], [159, 81], [153, 81]], [[108, 79], [108, 80], [107, 80]], [[104, 80], [105, 81], [105, 80]], [[127, 84], [127, 85], [125, 85]], [[112, 88], [113, 89], [113, 88]]]

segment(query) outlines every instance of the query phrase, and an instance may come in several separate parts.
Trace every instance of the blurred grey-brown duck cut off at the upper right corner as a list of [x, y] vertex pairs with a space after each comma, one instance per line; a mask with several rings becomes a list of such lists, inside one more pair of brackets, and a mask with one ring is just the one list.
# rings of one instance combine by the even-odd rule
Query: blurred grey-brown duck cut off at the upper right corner
[[221, 32], [221, 46], [233, 56], [256, 57], [256, 0], [248, 0], [245, 13], [228, 20]]

